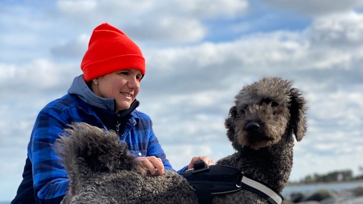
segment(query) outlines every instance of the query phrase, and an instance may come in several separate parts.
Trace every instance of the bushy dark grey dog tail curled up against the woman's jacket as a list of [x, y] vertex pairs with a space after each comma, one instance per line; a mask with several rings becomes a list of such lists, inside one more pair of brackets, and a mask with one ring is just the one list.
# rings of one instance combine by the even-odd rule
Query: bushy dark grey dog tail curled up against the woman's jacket
[[87, 178], [86, 173], [131, 170], [139, 165], [114, 131], [87, 123], [72, 123], [55, 145], [54, 150], [63, 158], [71, 181]]

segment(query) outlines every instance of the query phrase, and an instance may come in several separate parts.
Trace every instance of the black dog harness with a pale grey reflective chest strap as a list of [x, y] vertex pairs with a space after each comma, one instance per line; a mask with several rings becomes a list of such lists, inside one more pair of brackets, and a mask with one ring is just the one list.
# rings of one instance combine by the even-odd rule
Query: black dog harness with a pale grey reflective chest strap
[[203, 161], [197, 161], [194, 169], [189, 169], [181, 175], [196, 189], [200, 204], [211, 204], [214, 195], [234, 193], [242, 189], [265, 198], [270, 204], [281, 204], [284, 199], [279, 193], [249, 178], [234, 167], [207, 166]]

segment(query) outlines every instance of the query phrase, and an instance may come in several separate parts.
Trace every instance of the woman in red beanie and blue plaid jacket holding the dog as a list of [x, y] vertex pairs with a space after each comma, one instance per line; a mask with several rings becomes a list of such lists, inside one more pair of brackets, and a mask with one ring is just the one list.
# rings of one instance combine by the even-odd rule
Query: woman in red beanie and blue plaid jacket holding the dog
[[[28, 145], [23, 181], [12, 204], [60, 203], [69, 179], [54, 142], [72, 122], [86, 122], [115, 130], [130, 152], [150, 174], [172, 170], [145, 113], [137, 111], [136, 96], [145, 75], [140, 48], [122, 31], [108, 23], [97, 26], [81, 63], [83, 74], [73, 80], [63, 97], [46, 105], [38, 114]], [[193, 168], [193, 157], [187, 168]]]

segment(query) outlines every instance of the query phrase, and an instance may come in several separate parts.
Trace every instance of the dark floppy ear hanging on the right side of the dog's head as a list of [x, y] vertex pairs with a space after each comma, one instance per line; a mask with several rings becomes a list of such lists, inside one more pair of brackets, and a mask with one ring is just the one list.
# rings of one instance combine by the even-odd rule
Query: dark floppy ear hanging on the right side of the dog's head
[[297, 141], [303, 139], [307, 129], [306, 112], [307, 107], [304, 97], [298, 89], [292, 88], [290, 90], [290, 124]]

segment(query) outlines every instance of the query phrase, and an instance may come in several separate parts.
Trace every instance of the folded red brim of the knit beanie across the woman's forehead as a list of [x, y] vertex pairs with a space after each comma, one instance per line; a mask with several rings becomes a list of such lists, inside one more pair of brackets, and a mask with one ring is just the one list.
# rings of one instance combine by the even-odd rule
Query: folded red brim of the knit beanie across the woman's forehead
[[137, 69], [141, 74], [145, 74], [145, 58], [140, 55], [114, 56], [82, 67], [86, 82], [98, 76], [126, 69]]

